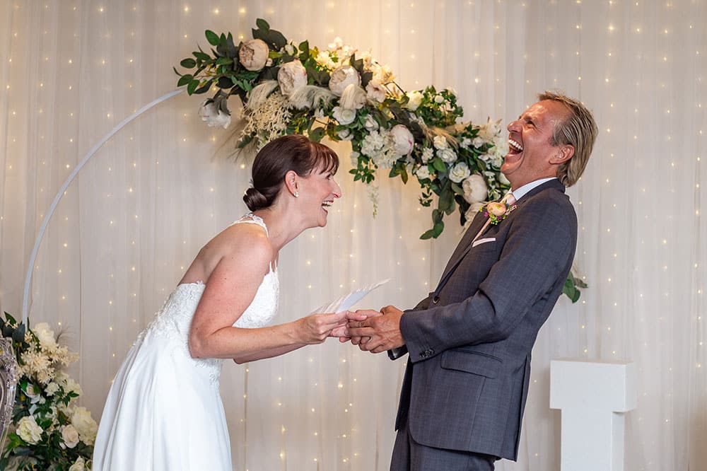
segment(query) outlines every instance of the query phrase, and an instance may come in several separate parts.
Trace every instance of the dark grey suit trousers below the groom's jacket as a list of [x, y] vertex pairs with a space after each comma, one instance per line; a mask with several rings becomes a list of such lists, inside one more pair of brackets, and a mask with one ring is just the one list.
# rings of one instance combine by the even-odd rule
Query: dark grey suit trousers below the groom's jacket
[[496, 456], [445, 450], [414, 441], [407, 420], [395, 437], [390, 471], [493, 471]]

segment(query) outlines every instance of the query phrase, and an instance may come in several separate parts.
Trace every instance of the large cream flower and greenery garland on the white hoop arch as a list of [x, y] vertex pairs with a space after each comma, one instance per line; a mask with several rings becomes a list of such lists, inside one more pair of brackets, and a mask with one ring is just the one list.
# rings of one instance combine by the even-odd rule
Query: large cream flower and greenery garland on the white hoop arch
[[[238, 45], [231, 33], [206, 30], [210, 52], [199, 47], [182, 59], [180, 66], [194, 71], [181, 74], [174, 68], [177, 86], [187, 86], [189, 95], [215, 91], [199, 109], [209, 126], [227, 128], [228, 98], [240, 98], [245, 126], [238, 149], [259, 149], [283, 134], [350, 141], [350, 172], [368, 185], [374, 215], [377, 191], [371, 183], [379, 168], [405, 183], [413, 175], [421, 187], [420, 204], [436, 202], [432, 228], [422, 239], [437, 238], [444, 217], [457, 209], [464, 226], [487, 201], [510, 189], [501, 173], [508, 152], [501, 121], [457, 122], [464, 111], [452, 89], [406, 92], [389, 67], [339, 38], [320, 50], [306, 40], [288, 41], [263, 19], [256, 26], [252, 39]], [[568, 276], [563, 292], [573, 302], [580, 284]]]

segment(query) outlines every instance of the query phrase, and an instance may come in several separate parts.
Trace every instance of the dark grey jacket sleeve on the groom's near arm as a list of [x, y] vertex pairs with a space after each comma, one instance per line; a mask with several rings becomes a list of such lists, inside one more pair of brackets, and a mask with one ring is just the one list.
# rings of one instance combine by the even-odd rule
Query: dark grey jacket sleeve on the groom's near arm
[[472, 296], [402, 315], [400, 330], [410, 361], [508, 337], [534, 303], [563, 283], [574, 256], [576, 233], [574, 210], [568, 202], [528, 202], [515, 215], [498, 261]]

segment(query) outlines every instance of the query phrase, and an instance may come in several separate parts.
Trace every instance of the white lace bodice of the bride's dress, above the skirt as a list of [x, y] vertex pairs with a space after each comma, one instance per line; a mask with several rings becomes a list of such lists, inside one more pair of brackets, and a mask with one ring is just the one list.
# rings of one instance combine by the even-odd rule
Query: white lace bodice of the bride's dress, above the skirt
[[[248, 219], [245, 219], [248, 218]], [[247, 214], [244, 219], [235, 221], [236, 223], [256, 223], [265, 229], [265, 223], [254, 214]], [[204, 293], [206, 285], [201, 281], [196, 283], [185, 283], [177, 286], [164, 305], [155, 315], [155, 319], [140, 335], [136, 343], [142, 342], [146, 335], [152, 334], [158, 337], [173, 339], [180, 344], [183, 352], [189, 355], [189, 328], [192, 325], [194, 312]], [[279, 279], [277, 272], [271, 267], [270, 271], [263, 277], [257, 293], [250, 306], [235, 321], [233, 327], [253, 329], [264, 327], [271, 322], [277, 313], [279, 299]], [[221, 373], [221, 359], [193, 359], [199, 366], [209, 369], [209, 378], [212, 383], [218, 383], [218, 376]]]

